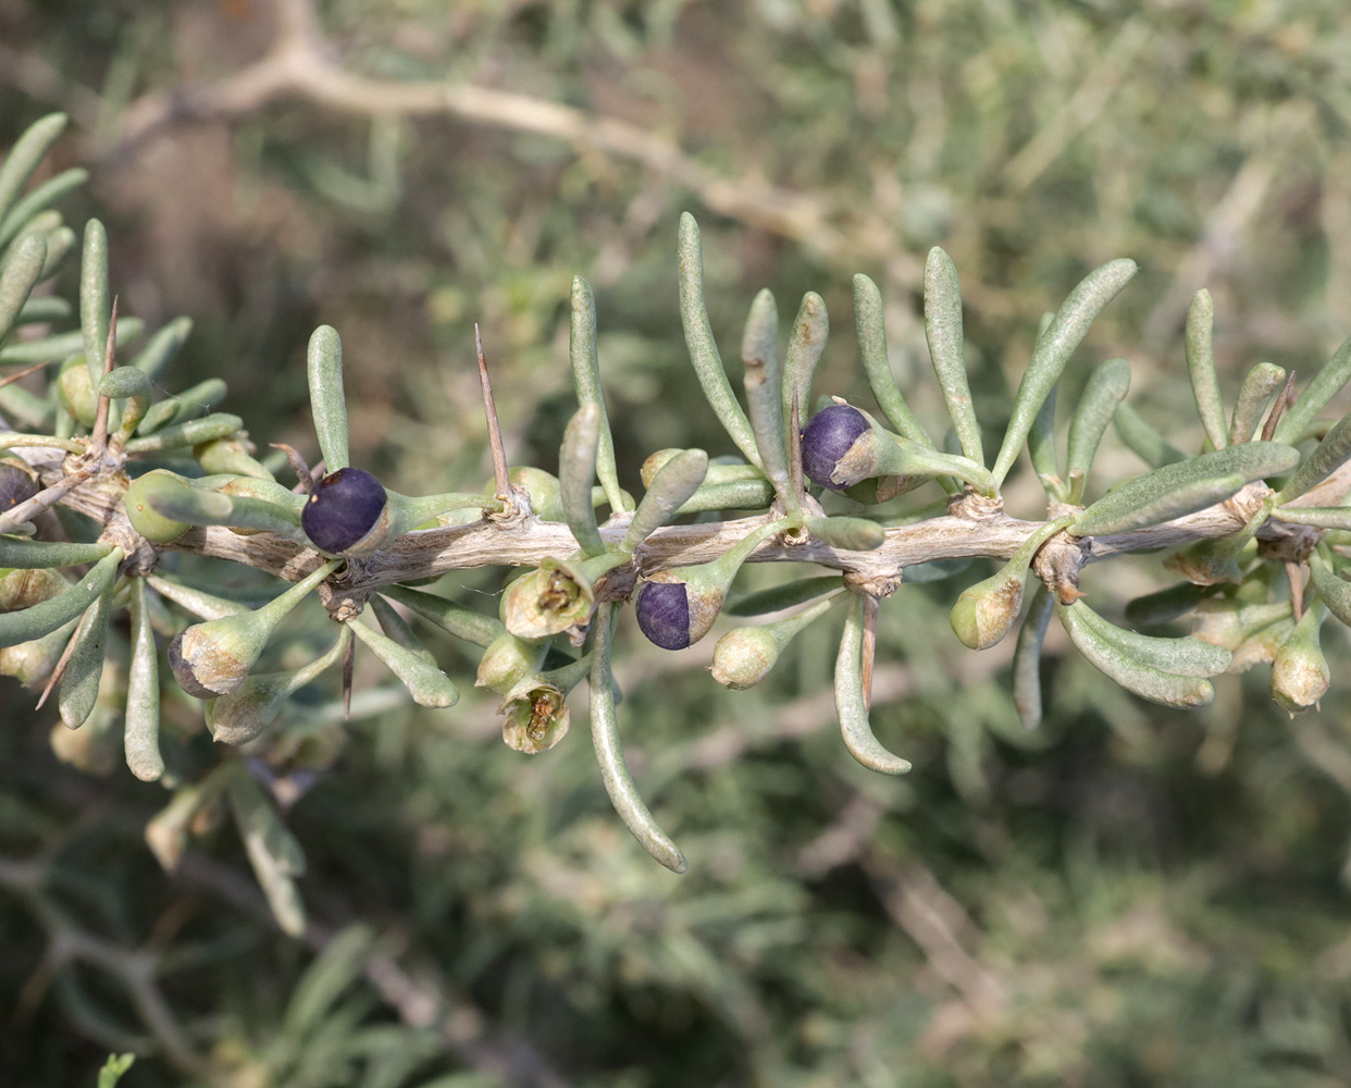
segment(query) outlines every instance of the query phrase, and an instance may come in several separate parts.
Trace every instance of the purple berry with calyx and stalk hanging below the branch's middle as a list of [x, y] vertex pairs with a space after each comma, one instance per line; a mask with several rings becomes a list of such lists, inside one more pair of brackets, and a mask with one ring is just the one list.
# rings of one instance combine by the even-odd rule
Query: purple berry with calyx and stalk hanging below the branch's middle
[[663, 650], [684, 650], [708, 634], [742, 564], [765, 539], [789, 523], [770, 522], [725, 555], [698, 566], [659, 570], [638, 587], [635, 611], [643, 634]]

